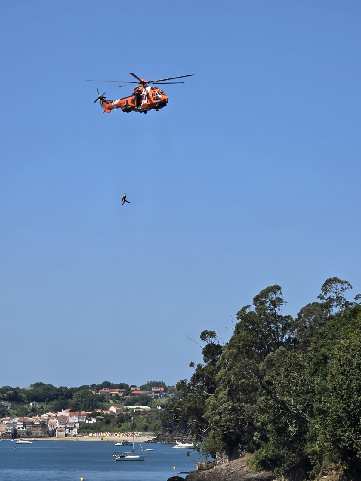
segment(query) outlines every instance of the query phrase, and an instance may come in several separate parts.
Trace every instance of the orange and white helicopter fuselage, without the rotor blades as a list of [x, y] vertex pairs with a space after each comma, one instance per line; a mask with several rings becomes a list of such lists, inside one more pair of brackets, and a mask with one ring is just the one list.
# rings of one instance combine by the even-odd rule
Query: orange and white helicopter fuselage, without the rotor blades
[[[143, 80], [143, 79], [142, 79]], [[136, 87], [131, 95], [118, 100], [100, 100], [104, 112], [109, 114], [114, 109], [121, 109], [123, 112], [144, 112], [148, 110], [159, 110], [166, 107], [168, 95], [158, 87], [140, 85]]]

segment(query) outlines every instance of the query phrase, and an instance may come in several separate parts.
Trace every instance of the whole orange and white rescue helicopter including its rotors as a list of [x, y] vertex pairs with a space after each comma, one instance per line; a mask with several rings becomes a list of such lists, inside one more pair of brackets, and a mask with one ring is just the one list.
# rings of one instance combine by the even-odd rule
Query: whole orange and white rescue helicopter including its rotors
[[[137, 79], [137, 82], [129, 81], [129, 82], [121, 82], [117, 80], [87, 80], [87, 82], [115, 82], [118, 84], [126, 84], [126, 85], [119, 85], [119, 87], [128, 87], [129, 85], [139, 84], [135, 87], [133, 93], [128, 97], [123, 97], [122, 99], [118, 100], [106, 100], [104, 95], [106, 92], [100, 95], [98, 91], [98, 97], [94, 100], [96, 103], [99, 100], [101, 107], [104, 109], [106, 114], [109, 114], [112, 110], [121, 109], [122, 112], [144, 112], [146, 114], [148, 110], [155, 110], [158, 112], [159, 109], [166, 107], [168, 104], [168, 95], [166, 95], [163, 90], [159, 89], [158, 87], [149, 87], [150, 84], [152, 85], [163, 85], [163, 84], [184, 84], [184, 82], [166, 82], [166, 80], [174, 80], [176, 78], [183, 78], [183, 77], [191, 77], [195, 74], [189, 75], [181, 75], [178, 77], [169, 77], [169, 78], [161, 78], [158, 80], [151, 80], [148, 81], [145, 78], [139, 78], [137, 75], [130, 72], [130, 75]], [[103, 114], [104, 114], [103, 112]]]

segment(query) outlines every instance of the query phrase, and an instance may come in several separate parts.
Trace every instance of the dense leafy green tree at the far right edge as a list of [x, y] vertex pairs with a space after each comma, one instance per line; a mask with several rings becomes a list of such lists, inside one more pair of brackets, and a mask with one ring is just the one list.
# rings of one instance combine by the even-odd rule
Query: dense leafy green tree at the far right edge
[[[313, 473], [341, 464], [349, 477], [361, 472], [361, 305], [344, 307], [315, 339], [314, 410], [308, 454]], [[356, 478], [355, 478], [356, 479]]]

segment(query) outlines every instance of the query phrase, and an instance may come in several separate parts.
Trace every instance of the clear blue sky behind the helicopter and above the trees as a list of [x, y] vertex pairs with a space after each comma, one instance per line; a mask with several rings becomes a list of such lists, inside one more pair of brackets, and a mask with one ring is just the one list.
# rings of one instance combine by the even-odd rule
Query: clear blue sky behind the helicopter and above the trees
[[[0, 4], [0, 385], [189, 378], [280, 284], [361, 291], [361, 3]], [[159, 112], [102, 115], [133, 80]], [[121, 205], [127, 192], [130, 204]], [[353, 296], [352, 296], [353, 297]]]

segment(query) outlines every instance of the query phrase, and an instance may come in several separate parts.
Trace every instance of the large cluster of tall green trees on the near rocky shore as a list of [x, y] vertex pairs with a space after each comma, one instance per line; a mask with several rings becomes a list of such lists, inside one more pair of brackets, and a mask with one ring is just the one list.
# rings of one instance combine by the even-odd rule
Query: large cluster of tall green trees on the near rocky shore
[[201, 333], [204, 363], [181, 380], [169, 418], [213, 457], [253, 453], [253, 469], [313, 479], [334, 467], [361, 472], [361, 304], [348, 281], [329, 278], [317, 302], [285, 314], [278, 285], [237, 313], [229, 342]]

